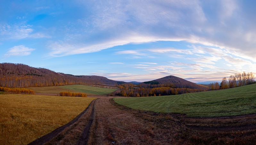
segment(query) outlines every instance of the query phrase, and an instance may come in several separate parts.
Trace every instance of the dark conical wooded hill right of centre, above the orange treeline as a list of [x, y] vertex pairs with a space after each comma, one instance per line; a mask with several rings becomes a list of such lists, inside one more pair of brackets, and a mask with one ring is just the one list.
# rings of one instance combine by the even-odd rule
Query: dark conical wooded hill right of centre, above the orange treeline
[[208, 89], [205, 86], [192, 83], [177, 76], [165, 76], [153, 81], [143, 82], [141, 85], [152, 87], [172, 87], [172, 88], [189, 88], [189, 89]]

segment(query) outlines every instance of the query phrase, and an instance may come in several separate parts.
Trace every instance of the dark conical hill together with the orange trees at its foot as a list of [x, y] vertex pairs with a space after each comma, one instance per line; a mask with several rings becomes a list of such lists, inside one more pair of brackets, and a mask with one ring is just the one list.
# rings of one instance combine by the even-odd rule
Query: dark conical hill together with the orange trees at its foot
[[198, 85], [176, 76], [166, 76], [139, 85], [124, 83], [118, 87], [121, 89], [120, 96], [125, 97], [178, 95], [208, 90], [207, 86]]

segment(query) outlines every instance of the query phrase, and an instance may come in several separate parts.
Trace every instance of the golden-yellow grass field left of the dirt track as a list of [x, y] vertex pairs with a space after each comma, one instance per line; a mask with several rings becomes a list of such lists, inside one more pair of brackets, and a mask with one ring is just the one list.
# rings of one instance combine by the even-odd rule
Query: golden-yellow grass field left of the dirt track
[[0, 94], [0, 144], [28, 144], [74, 119], [94, 99]]

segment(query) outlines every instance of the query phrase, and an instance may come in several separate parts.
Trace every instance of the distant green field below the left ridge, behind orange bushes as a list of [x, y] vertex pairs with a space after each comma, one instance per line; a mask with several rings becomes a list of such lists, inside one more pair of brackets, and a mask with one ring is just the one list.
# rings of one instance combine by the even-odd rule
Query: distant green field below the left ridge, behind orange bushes
[[59, 94], [62, 91], [70, 91], [74, 93], [86, 93], [87, 95], [104, 95], [116, 91], [116, 89], [91, 87], [79, 84], [50, 87], [29, 87], [27, 89], [34, 90], [36, 93]]

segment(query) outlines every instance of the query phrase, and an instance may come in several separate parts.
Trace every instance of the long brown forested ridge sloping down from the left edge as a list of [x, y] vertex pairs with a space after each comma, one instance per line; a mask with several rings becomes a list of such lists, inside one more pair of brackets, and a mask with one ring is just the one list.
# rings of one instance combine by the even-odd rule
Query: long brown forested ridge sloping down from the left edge
[[35, 87], [58, 86], [69, 84], [117, 84], [124, 83], [110, 80], [103, 76], [74, 76], [56, 73], [49, 69], [34, 68], [25, 64], [0, 63], [0, 86]]

